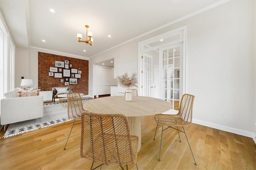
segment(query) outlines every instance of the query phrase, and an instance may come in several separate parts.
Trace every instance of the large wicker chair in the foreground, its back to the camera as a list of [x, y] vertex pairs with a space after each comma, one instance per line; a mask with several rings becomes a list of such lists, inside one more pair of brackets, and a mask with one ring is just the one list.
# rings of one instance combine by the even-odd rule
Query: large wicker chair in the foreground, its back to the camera
[[[80, 156], [92, 160], [91, 170], [103, 164], [136, 164], [138, 136], [130, 135], [128, 121], [122, 114], [82, 113]], [[94, 162], [100, 165], [93, 168]]]

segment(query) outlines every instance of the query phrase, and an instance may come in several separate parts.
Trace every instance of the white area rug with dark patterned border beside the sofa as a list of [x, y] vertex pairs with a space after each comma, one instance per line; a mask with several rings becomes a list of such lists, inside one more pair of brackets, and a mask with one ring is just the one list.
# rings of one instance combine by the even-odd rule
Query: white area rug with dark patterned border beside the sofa
[[[90, 99], [83, 99], [83, 104], [88, 100]], [[42, 129], [44, 127], [58, 125], [71, 120], [72, 119], [68, 117], [67, 108], [62, 107], [60, 103], [44, 104], [43, 117], [10, 124], [4, 134], [4, 138]]]

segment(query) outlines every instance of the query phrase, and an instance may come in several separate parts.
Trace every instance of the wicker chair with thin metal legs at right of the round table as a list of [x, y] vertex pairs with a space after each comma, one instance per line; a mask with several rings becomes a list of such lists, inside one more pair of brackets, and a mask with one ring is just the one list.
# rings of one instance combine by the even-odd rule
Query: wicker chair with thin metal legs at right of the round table
[[[189, 126], [191, 121], [192, 121], [192, 109], [193, 109], [193, 102], [194, 102], [194, 98], [195, 96], [190, 95], [190, 94], [184, 94], [182, 96], [181, 102], [180, 102], [180, 109], [179, 112], [176, 115], [168, 115], [168, 114], [156, 114], [155, 115], [155, 120], [156, 120], [156, 130], [159, 126], [162, 126], [162, 133], [161, 133], [161, 141], [160, 141], [160, 151], [159, 151], [159, 159], [158, 161], [160, 161], [160, 155], [161, 155], [161, 146], [162, 146], [162, 136], [163, 136], [163, 131], [165, 131], [168, 128], [173, 128], [176, 129], [178, 131], [178, 135], [179, 135], [179, 139], [180, 139], [180, 132], [183, 132], [186, 136], [186, 139], [188, 141], [188, 137], [186, 135], [186, 132], [184, 130], [184, 126]], [[164, 129], [164, 126], [167, 126]], [[177, 128], [174, 128], [174, 127]], [[183, 131], [178, 129], [178, 127], [182, 127]], [[156, 137], [156, 132], [154, 135], [154, 140]], [[180, 140], [181, 142], [181, 140]], [[192, 152], [192, 149], [190, 147], [190, 144], [188, 142], [188, 146], [190, 148], [190, 151], [192, 153], [193, 159], [194, 159], [194, 164], [196, 164], [196, 160], [194, 158], [194, 154]]]

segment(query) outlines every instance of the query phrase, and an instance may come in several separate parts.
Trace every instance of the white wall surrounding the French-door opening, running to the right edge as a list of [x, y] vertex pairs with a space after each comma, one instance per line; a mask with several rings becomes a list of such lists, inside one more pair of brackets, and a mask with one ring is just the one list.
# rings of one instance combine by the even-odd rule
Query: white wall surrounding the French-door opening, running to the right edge
[[254, 137], [255, 1], [229, 1], [90, 59], [115, 58], [115, 75], [138, 72], [138, 42], [187, 25], [186, 92], [193, 122]]

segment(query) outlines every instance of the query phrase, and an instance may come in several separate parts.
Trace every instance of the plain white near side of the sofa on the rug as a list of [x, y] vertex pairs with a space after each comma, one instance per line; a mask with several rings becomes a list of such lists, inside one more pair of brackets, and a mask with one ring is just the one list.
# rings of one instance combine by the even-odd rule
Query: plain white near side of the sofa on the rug
[[43, 117], [43, 96], [4, 98], [1, 100], [1, 125]]

